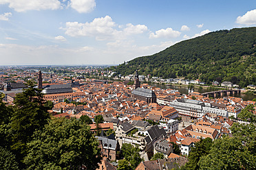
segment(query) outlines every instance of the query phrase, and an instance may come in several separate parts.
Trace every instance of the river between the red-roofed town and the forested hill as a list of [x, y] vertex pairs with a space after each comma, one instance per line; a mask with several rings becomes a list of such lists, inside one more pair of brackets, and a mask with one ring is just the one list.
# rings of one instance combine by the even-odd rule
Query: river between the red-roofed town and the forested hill
[[[162, 85], [162, 84], [150, 84], [151, 86], [156, 86], [162, 89], [167, 89], [167, 88], [171, 88], [173, 90], [179, 90], [180, 93], [182, 94], [188, 94], [189, 93], [189, 88], [187, 86], [167, 86], [167, 85]], [[193, 90], [195, 92], [199, 92], [199, 93], [206, 93], [206, 92], [210, 92], [212, 90], [207, 90], [206, 88], [193, 88]], [[225, 95], [224, 95], [225, 96]], [[234, 95], [230, 95], [233, 97], [239, 97], [242, 98], [244, 101], [247, 100], [253, 100], [254, 98], [256, 98], [255, 95], [246, 95], [244, 93], [240, 93], [240, 94], [234, 94]]]

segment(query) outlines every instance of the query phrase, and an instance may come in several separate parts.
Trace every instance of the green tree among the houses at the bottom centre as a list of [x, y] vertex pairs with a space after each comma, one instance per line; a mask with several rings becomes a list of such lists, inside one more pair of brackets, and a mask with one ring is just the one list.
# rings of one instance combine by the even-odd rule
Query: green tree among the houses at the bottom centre
[[131, 144], [124, 143], [122, 144], [122, 156], [128, 160], [131, 164], [131, 168], [135, 169], [140, 162], [142, 161], [142, 158], [140, 158], [140, 149], [136, 146], [134, 147]]

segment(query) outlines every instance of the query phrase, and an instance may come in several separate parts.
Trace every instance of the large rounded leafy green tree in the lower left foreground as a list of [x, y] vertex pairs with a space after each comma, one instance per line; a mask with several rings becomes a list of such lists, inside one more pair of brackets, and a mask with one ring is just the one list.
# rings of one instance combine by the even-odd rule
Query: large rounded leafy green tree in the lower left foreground
[[96, 169], [101, 160], [98, 141], [90, 127], [77, 119], [52, 119], [37, 130], [28, 143], [25, 164], [28, 169]]

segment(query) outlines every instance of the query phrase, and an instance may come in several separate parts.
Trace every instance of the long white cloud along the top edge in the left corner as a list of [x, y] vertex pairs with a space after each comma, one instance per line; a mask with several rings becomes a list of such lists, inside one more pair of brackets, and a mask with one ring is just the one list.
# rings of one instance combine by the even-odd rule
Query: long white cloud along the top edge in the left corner
[[0, 4], [9, 4], [17, 12], [28, 10], [57, 10], [61, 8], [58, 0], [0, 0]]

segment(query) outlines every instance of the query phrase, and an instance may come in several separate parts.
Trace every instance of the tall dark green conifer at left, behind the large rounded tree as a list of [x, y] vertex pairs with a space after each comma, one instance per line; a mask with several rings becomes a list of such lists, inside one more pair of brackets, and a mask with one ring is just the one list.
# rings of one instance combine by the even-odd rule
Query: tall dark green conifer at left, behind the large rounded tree
[[50, 108], [43, 99], [41, 90], [34, 88], [34, 82], [28, 82], [26, 85], [28, 88], [15, 97], [11, 122], [12, 150], [19, 161], [27, 154], [27, 143], [31, 141], [34, 131], [43, 129], [50, 119], [47, 112]]

